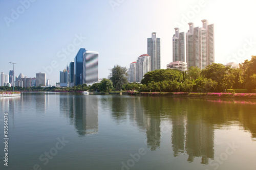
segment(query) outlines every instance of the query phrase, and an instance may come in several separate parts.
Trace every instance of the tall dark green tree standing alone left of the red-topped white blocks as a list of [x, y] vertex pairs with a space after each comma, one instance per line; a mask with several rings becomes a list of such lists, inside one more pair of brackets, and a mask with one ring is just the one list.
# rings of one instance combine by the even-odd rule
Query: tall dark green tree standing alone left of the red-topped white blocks
[[115, 65], [114, 68], [111, 69], [110, 76], [110, 80], [113, 82], [113, 86], [116, 90], [121, 90], [122, 86], [128, 83], [126, 67]]

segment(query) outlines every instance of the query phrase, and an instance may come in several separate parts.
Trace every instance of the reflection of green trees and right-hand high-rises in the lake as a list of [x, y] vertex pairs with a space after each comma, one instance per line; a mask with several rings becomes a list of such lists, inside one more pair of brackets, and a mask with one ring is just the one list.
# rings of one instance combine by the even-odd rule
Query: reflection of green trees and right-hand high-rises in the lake
[[201, 157], [202, 164], [207, 164], [209, 158], [214, 159], [216, 127], [239, 122], [255, 137], [256, 115], [252, 114], [255, 101], [154, 97], [123, 100], [121, 103], [117, 99], [111, 101], [114, 119], [129, 114], [130, 120], [146, 134], [147, 147], [152, 151], [160, 148], [161, 134], [165, 135], [161, 133], [161, 120], [171, 120], [174, 156], [186, 153], [189, 162], [195, 157]]

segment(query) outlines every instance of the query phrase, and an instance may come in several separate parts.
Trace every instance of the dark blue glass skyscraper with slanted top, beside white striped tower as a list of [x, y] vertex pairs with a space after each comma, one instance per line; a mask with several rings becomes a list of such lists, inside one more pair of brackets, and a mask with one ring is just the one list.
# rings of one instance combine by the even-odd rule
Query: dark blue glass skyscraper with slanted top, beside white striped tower
[[82, 72], [83, 72], [83, 64], [82, 64], [82, 59], [83, 59], [83, 53], [86, 51], [85, 48], [80, 48], [78, 53], [76, 54], [75, 57], [75, 62], [74, 62], [74, 83], [75, 85], [82, 84]]

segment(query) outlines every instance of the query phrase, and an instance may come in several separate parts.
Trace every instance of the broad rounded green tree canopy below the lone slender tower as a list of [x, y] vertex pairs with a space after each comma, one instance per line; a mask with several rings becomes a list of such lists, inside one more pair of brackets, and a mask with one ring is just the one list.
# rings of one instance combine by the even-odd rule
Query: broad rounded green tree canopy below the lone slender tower
[[150, 82], [162, 82], [162, 81], [174, 81], [181, 82], [182, 71], [177, 69], [157, 69], [154, 71], [147, 72], [144, 78], [141, 80], [142, 84], [148, 85]]

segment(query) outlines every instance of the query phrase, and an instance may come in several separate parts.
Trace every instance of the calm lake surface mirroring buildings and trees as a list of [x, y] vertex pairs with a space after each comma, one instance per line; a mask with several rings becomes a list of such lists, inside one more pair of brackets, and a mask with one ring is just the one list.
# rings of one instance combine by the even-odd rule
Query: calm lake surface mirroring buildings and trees
[[0, 112], [0, 169], [256, 167], [256, 100], [27, 92]]

